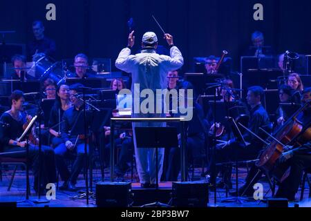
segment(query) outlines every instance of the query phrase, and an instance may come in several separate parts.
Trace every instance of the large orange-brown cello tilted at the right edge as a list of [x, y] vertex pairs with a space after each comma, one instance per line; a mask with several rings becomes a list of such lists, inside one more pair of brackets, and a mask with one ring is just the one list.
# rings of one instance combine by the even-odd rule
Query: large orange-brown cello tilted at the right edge
[[303, 142], [311, 139], [311, 128], [303, 131], [302, 122], [297, 119], [298, 115], [308, 108], [309, 102], [306, 102], [287, 122], [276, 131], [272, 142], [267, 144], [265, 150], [260, 155], [256, 166], [271, 173], [279, 182], [283, 182], [290, 174], [290, 166], [279, 164], [278, 160], [284, 151], [293, 150], [292, 146], [302, 146]]

